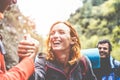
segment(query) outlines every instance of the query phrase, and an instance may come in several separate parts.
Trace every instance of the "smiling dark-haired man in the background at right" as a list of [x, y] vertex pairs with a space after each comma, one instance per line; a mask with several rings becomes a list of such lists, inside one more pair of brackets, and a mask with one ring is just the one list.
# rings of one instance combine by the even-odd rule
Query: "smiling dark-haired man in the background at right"
[[108, 39], [97, 43], [100, 54], [100, 68], [94, 69], [98, 80], [120, 80], [120, 61], [111, 56], [112, 45]]

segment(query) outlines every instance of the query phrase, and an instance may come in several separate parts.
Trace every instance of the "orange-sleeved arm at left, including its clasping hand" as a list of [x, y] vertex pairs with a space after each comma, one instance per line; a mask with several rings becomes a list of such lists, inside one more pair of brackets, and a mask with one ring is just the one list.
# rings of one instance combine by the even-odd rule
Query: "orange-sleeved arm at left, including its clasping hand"
[[0, 80], [27, 80], [34, 72], [34, 59], [36, 54], [36, 44], [29, 40], [22, 40], [18, 45], [18, 55], [21, 55], [20, 63], [12, 67], [9, 71], [0, 71]]

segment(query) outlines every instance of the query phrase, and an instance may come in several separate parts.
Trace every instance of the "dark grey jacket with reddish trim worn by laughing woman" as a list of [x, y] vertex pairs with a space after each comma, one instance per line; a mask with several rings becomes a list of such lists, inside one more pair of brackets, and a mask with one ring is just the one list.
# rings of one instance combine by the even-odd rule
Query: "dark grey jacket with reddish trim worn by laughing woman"
[[56, 61], [46, 61], [44, 57], [38, 56], [35, 73], [30, 80], [96, 80], [96, 77], [87, 57], [84, 57], [83, 62], [78, 61], [71, 66], [70, 72], [66, 74]]

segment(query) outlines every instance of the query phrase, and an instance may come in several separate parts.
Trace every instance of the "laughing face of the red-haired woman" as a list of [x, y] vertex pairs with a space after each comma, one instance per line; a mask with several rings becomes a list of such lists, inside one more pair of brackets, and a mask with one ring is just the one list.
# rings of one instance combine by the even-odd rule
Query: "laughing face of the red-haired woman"
[[54, 52], [70, 50], [70, 29], [63, 23], [56, 24], [50, 31], [50, 45]]

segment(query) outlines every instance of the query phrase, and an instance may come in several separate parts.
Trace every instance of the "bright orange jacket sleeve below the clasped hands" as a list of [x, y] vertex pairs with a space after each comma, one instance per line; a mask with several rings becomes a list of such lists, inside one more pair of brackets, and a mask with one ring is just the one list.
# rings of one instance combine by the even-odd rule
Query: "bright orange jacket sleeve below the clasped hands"
[[24, 58], [19, 64], [6, 73], [0, 74], [0, 80], [27, 80], [34, 72], [34, 63], [30, 58]]

